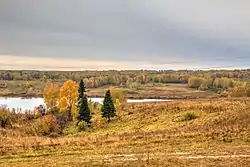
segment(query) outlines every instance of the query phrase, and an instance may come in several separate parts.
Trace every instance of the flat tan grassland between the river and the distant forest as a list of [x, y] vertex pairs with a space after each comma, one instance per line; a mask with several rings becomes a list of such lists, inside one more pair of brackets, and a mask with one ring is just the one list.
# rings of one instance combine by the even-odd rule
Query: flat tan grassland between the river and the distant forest
[[[45, 83], [38, 81], [4, 81], [6, 87], [0, 88], [0, 96], [15, 97], [41, 97]], [[57, 82], [62, 86], [62, 82]], [[103, 97], [109, 86], [88, 89], [91, 97]], [[187, 84], [144, 84], [136, 88], [122, 89], [128, 98], [165, 98], [165, 99], [190, 99], [210, 98], [219, 95], [212, 91], [200, 91], [189, 88]]]

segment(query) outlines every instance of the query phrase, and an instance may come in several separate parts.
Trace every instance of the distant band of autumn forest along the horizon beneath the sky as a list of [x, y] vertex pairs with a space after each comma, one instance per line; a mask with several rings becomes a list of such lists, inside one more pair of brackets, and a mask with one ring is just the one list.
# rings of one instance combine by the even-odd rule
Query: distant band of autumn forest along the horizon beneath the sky
[[[33, 70], [2, 70], [0, 71], [1, 87], [5, 81], [64, 83], [67, 80], [80, 81], [83, 79], [86, 88], [102, 86], [118, 86], [133, 89], [138, 85], [148, 83], [178, 83], [188, 84], [190, 88], [212, 90], [217, 93], [223, 91], [241, 92], [250, 96], [250, 69], [245, 70], [109, 70], [109, 71], [33, 71]], [[32, 85], [30, 85], [32, 87]], [[243, 92], [243, 93], [242, 93]], [[238, 93], [231, 93], [233, 96]]]

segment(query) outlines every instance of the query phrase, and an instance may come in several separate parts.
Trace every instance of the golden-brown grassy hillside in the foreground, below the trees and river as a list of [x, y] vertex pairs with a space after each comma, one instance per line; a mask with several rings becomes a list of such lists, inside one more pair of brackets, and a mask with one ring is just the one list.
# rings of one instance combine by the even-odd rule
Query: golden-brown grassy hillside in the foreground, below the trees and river
[[57, 138], [1, 129], [1, 166], [248, 166], [250, 100], [126, 104]]

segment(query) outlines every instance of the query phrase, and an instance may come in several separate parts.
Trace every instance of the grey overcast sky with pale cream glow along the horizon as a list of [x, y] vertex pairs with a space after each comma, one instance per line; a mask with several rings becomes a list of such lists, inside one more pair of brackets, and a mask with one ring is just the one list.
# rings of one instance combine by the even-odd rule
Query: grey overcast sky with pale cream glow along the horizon
[[0, 0], [0, 67], [250, 68], [249, 6], [249, 0]]

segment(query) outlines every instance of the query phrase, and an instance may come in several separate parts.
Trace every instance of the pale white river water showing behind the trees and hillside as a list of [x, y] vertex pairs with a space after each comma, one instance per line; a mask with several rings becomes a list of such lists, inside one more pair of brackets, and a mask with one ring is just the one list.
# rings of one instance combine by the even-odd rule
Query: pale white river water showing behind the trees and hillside
[[[89, 98], [92, 102], [102, 103], [103, 98]], [[165, 99], [127, 99], [127, 103], [143, 103], [169, 101]], [[6, 105], [9, 109], [33, 110], [34, 107], [44, 104], [43, 98], [18, 98], [18, 97], [0, 97], [0, 105]]]

